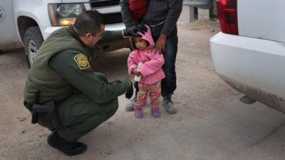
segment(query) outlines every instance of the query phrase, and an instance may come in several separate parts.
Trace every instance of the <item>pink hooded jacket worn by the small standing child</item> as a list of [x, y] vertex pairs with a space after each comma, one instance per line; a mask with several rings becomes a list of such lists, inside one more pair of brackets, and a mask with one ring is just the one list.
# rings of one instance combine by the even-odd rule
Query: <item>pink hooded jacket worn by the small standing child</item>
[[140, 79], [140, 82], [150, 85], [165, 78], [165, 73], [162, 70], [165, 59], [162, 54], [152, 51], [155, 42], [152, 39], [150, 27], [147, 26], [147, 32], [145, 34], [140, 34], [142, 35], [142, 39], [150, 43], [150, 46], [147, 46], [147, 48], [143, 50], [133, 50], [133, 52], [130, 53], [128, 57], [128, 71], [129, 74], [133, 74], [133, 69], [138, 68], [138, 63], [142, 62], [143, 65], [140, 68], [142, 78]]

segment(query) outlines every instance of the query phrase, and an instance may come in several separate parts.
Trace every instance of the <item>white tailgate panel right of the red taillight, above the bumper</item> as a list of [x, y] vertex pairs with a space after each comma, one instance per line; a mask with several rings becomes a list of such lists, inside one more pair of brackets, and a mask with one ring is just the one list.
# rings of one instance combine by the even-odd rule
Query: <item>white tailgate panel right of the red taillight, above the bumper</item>
[[238, 0], [239, 36], [285, 43], [284, 0]]

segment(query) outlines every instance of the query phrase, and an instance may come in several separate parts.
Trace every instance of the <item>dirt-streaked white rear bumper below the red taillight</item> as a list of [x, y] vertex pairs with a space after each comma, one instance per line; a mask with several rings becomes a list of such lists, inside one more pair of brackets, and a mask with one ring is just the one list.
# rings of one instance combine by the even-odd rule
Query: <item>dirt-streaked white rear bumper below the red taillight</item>
[[285, 113], [285, 44], [217, 33], [210, 40], [214, 68], [239, 92]]

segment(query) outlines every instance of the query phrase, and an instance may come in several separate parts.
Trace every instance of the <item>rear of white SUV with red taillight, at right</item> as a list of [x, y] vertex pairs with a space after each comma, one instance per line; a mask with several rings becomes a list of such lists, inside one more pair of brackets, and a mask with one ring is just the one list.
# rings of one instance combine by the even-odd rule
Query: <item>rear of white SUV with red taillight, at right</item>
[[248, 98], [285, 112], [285, 1], [217, 0], [210, 40], [219, 76]]

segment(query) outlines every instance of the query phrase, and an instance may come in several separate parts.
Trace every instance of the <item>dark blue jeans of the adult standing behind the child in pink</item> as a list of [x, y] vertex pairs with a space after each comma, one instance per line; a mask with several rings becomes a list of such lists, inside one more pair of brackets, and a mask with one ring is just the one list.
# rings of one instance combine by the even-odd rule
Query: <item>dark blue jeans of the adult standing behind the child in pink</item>
[[[156, 42], [160, 37], [160, 32], [162, 30], [164, 23], [159, 26], [150, 26], [152, 33], [152, 38]], [[161, 95], [162, 97], [171, 97], [176, 89], [176, 71], [175, 71], [175, 61], [177, 55], [177, 27], [175, 27], [170, 34], [167, 36], [165, 44], [165, 52], [163, 53], [165, 58], [165, 64], [162, 66], [165, 72], [165, 78], [161, 81]]]

